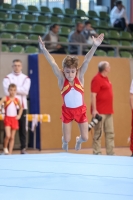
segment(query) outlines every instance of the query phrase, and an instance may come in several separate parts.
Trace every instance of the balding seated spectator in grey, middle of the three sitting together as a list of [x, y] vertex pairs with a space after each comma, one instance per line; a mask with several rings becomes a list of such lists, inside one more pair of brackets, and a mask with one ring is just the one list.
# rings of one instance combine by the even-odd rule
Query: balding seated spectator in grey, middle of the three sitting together
[[[78, 22], [76, 25], [76, 30], [72, 31], [69, 34], [68, 41], [69, 42], [77, 42], [77, 43], [84, 43], [87, 44], [84, 35], [82, 34], [84, 25], [81, 22]], [[69, 45], [69, 53], [70, 54], [78, 54], [79, 53], [79, 45]], [[82, 54], [86, 55], [87, 46], [83, 46]]]

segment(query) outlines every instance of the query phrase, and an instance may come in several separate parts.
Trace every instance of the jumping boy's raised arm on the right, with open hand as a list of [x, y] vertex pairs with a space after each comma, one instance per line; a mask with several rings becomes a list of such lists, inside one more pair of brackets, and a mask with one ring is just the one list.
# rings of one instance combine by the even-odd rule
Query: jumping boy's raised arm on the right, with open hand
[[90, 51], [86, 54], [85, 58], [84, 58], [84, 62], [82, 64], [82, 66], [79, 68], [78, 70], [78, 77], [80, 82], [83, 84], [84, 82], [84, 74], [88, 68], [88, 64], [90, 62], [90, 60], [92, 59], [97, 47], [102, 43], [103, 39], [104, 39], [104, 34], [100, 34], [97, 38], [94, 38], [94, 36], [92, 36], [93, 38], [93, 46], [90, 49]]

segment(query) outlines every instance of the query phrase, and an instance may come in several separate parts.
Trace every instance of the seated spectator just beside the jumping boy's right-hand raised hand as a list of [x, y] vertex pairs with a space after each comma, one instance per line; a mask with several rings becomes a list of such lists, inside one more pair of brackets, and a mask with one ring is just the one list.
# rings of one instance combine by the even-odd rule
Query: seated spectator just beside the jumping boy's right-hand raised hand
[[89, 45], [93, 44], [92, 36], [98, 37], [98, 34], [96, 33], [96, 31], [91, 26], [91, 22], [88, 21], [88, 20], [85, 21], [85, 26], [84, 26], [84, 30], [82, 31], [82, 34], [84, 35], [86, 42]]

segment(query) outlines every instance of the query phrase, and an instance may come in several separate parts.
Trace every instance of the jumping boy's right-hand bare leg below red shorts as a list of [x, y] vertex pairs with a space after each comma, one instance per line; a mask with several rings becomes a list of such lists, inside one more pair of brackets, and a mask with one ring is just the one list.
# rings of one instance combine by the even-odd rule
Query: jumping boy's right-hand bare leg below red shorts
[[80, 130], [80, 136], [76, 137], [76, 150], [80, 150], [82, 142], [86, 142], [88, 140], [88, 122], [78, 123], [78, 125]]

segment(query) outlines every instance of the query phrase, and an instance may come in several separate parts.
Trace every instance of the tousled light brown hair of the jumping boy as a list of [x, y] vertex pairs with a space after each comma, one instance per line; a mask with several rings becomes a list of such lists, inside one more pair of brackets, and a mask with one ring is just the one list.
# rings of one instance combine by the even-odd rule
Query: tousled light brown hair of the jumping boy
[[78, 68], [78, 57], [77, 56], [66, 56], [62, 61], [62, 67], [65, 68]]

